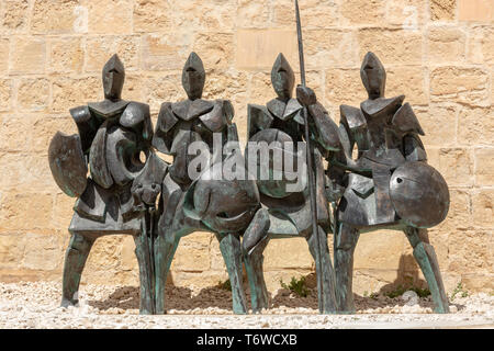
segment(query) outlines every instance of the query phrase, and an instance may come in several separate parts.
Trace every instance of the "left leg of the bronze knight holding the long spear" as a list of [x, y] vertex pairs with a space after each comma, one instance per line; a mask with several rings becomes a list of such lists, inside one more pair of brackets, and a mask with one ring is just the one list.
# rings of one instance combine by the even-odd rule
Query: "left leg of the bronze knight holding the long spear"
[[250, 301], [255, 313], [269, 307], [268, 288], [266, 287], [262, 269], [265, 260], [262, 252], [269, 241], [269, 225], [268, 211], [259, 210], [247, 227], [242, 241], [245, 269], [250, 287]]

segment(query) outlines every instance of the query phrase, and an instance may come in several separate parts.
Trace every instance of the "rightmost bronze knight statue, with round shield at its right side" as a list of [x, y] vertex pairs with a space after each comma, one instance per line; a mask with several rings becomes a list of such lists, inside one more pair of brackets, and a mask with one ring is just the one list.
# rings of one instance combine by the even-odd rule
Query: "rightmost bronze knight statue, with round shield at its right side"
[[[341, 151], [333, 174], [346, 189], [336, 208], [334, 240], [338, 310], [353, 313], [353, 251], [360, 233], [403, 230], [414, 249], [433, 295], [435, 312], [448, 313], [437, 257], [427, 229], [446, 218], [449, 191], [441, 174], [427, 165], [419, 135], [424, 131], [404, 95], [385, 99], [386, 73], [368, 53], [360, 76], [369, 99], [360, 109], [341, 105]], [[352, 159], [353, 146], [358, 157]], [[339, 172], [339, 176], [338, 176]]]

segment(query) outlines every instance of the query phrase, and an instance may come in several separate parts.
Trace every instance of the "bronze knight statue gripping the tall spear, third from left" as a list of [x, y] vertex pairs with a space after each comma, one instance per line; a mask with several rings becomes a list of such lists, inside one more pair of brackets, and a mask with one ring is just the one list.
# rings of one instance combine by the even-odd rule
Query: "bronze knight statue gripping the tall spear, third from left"
[[[321, 282], [319, 310], [326, 314], [335, 313], [335, 275], [327, 247], [327, 233], [332, 231], [328, 201], [332, 201], [329, 194], [333, 184], [327, 170], [324, 169], [323, 159], [332, 160], [340, 150], [338, 127], [317, 102], [312, 89], [299, 86], [296, 99], [292, 98], [295, 77], [282, 54], [278, 56], [272, 67], [271, 82], [277, 98], [269, 101], [266, 106], [254, 104], [248, 106], [249, 144], [245, 155], [249, 171], [257, 173], [261, 202], [261, 208], [256, 213], [243, 241], [247, 273], [251, 275], [250, 291], [251, 294], [256, 292], [252, 307], [257, 309], [268, 307], [268, 294], [262, 278], [262, 251], [269, 239], [302, 236], [307, 240], [316, 263], [321, 262], [321, 265], [316, 264], [317, 279]], [[313, 145], [311, 155], [314, 160], [316, 189], [316, 235], [313, 230], [305, 162], [304, 107], [308, 112], [308, 133]], [[251, 149], [259, 143], [272, 146], [267, 166], [262, 163], [260, 154], [256, 155]], [[251, 157], [256, 157], [256, 160], [252, 161]], [[281, 166], [280, 162], [277, 165], [277, 160], [281, 159], [284, 165]], [[255, 165], [255, 169], [251, 163]], [[295, 169], [288, 167], [289, 163], [299, 166]], [[262, 179], [261, 173], [266, 169], [269, 169], [269, 178]], [[277, 179], [277, 172], [282, 177]], [[295, 182], [299, 182], [297, 188]]]

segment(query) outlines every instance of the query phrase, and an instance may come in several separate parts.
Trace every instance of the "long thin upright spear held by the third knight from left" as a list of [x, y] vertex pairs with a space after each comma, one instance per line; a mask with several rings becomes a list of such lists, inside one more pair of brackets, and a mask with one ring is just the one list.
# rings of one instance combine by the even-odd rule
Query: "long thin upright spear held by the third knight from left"
[[[304, 45], [302, 41], [302, 23], [300, 20], [299, 1], [295, 0], [295, 13], [296, 13], [296, 34], [299, 38], [299, 58], [300, 58], [300, 76], [302, 87], [305, 88], [305, 61], [304, 61]], [[322, 270], [322, 257], [321, 257], [321, 240], [317, 228], [317, 201], [315, 189], [315, 176], [313, 168], [312, 148], [311, 148], [311, 135], [308, 132], [308, 113], [307, 107], [303, 106], [303, 117], [305, 125], [305, 143], [306, 143], [306, 159], [307, 159], [307, 176], [308, 176], [308, 190], [311, 196], [311, 213], [312, 213], [312, 235], [315, 240], [316, 252], [316, 265], [317, 265], [317, 292], [318, 292], [318, 306], [319, 312], [323, 313], [323, 270]]]

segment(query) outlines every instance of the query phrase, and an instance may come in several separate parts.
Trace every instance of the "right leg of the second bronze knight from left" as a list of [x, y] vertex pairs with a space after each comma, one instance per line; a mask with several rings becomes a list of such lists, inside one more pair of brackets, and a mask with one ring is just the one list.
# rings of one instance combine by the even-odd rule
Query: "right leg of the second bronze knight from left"
[[247, 314], [247, 303], [242, 279], [242, 248], [238, 234], [216, 234], [220, 250], [225, 260], [232, 285], [233, 312], [236, 315]]

